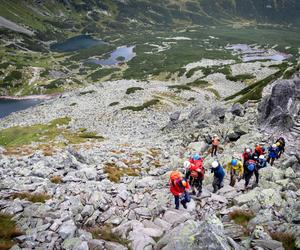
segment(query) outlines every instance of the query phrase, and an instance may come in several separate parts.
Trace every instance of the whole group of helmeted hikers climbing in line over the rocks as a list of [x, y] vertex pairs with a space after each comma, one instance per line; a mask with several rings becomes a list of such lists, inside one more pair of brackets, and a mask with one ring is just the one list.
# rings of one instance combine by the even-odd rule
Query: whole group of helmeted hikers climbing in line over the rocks
[[[211, 156], [214, 157], [217, 155], [220, 144], [220, 139], [217, 135], [212, 137], [211, 144]], [[246, 190], [253, 174], [255, 175], [254, 186], [257, 186], [259, 170], [267, 167], [268, 163], [273, 166], [275, 159], [280, 158], [282, 153], [284, 153], [284, 148], [285, 140], [283, 137], [280, 137], [269, 148], [259, 144], [255, 146], [254, 150], [245, 148], [241, 157], [232, 156], [232, 159], [224, 167], [218, 160], [214, 160], [210, 168], [214, 176], [212, 182], [213, 192], [216, 193], [224, 186], [225, 170], [230, 175], [230, 186], [234, 187], [236, 180], [244, 179]], [[192, 195], [201, 196], [202, 182], [206, 171], [203, 160], [204, 157], [196, 153], [184, 162], [184, 174], [179, 171], [171, 172], [169, 184], [170, 191], [175, 198], [176, 209], [179, 209], [180, 203], [184, 208], [187, 208], [187, 203], [190, 202], [190, 190]]]

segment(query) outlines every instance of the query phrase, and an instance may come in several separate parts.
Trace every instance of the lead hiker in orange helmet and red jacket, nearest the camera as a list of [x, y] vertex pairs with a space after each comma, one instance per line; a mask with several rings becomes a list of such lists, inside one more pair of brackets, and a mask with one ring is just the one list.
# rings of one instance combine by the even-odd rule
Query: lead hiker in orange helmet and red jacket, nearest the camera
[[175, 198], [175, 209], [179, 209], [179, 201], [182, 206], [187, 209], [186, 203], [190, 202], [188, 190], [190, 185], [185, 178], [178, 171], [173, 171], [170, 175], [170, 191]]

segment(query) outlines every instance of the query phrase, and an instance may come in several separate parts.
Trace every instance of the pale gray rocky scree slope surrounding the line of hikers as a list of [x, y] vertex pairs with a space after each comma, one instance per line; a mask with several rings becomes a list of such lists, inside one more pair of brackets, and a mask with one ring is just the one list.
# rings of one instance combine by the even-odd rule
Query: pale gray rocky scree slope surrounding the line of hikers
[[[297, 79], [289, 81], [296, 83]], [[274, 83], [271, 93], [281, 84]], [[221, 136], [218, 159], [222, 164], [246, 146], [273, 142], [278, 134], [260, 129], [257, 118], [264, 114], [258, 113], [256, 103], [225, 106], [212, 99], [212, 105], [205, 98], [201, 103], [183, 102], [190, 96], [182, 92], [182, 106], [165, 99], [140, 112], [121, 111], [126, 105], [138, 105], [136, 100], [143, 95], [148, 100], [149, 92], [140, 90], [124, 98], [115, 91], [115, 99], [110, 95], [105, 99], [101, 90], [92, 86], [81, 95], [67, 93], [1, 122], [4, 128], [69, 115], [70, 129], [84, 125], [106, 137], [103, 142], [57, 148], [47, 156], [42, 151], [7, 155], [1, 149], [0, 211], [13, 215], [24, 233], [13, 249], [183, 249], [187, 245], [190, 249], [282, 249], [282, 243], [271, 238], [282, 233], [293, 235], [300, 247], [299, 140], [293, 140], [290, 132], [284, 132], [286, 154], [273, 167], [261, 170], [258, 187], [243, 192], [243, 181], [232, 188], [226, 177], [224, 188], [213, 194], [212, 175], [207, 171], [201, 198], [195, 197], [187, 210], [173, 209], [169, 172], [181, 168], [196, 151], [206, 157], [209, 169], [214, 159], [206, 152], [212, 134]], [[282, 96], [271, 94], [272, 98]], [[112, 101], [120, 101], [120, 106], [103, 113]], [[293, 102], [299, 105], [299, 99]], [[60, 177], [57, 184], [51, 181], [54, 176]], [[48, 197], [42, 203], [15, 195], [24, 192]], [[237, 213], [250, 214], [246, 223], [233, 220]]]

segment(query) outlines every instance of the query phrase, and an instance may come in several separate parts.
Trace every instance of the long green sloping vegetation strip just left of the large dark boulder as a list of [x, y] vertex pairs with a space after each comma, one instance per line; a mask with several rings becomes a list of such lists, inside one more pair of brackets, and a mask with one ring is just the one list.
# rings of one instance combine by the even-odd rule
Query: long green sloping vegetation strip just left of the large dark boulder
[[251, 84], [250, 86], [247, 86], [246, 88], [243, 88], [242, 90], [238, 91], [237, 93], [226, 97], [224, 100], [229, 101], [232, 100], [238, 96], [241, 96], [236, 102], [239, 103], [245, 103], [248, 100], [259, 100], [261, 99], [262, 90], [265, 86], [267, 86], [272, 81], [278, 79], [283, 75], [283, 71], [279, 70], [275, 74], [270, 75], [256, 83]]

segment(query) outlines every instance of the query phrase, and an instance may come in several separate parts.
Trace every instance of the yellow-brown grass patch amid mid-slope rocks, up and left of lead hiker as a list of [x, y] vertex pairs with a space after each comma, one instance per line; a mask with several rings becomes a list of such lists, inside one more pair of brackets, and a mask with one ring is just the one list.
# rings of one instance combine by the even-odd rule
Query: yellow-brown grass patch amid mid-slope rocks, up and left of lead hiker
[[107, 163], [104, 167], [104, 172], [108, 174], [108, 179], [112, 182], [119, 183], [123, 176], [138, 176], [140, 170], [137, 168], [119, 168], [115, 164]]

